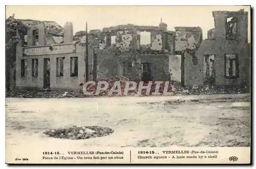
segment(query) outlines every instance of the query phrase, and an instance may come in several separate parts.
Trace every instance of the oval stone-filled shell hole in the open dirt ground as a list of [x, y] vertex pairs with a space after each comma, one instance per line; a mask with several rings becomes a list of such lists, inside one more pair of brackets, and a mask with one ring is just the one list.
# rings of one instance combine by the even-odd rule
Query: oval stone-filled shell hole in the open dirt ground
[[63, 139], [89, 139], [94, 137], [103, 137], [108, 136], [114, 132], [111, 128], [101, 127], [101, 126], [73, 126], [71, 128], [60, 128], [60, 129], [51, 129], [43, 134], [46, 134], [49, 137], [54, 138], [63, 138]]

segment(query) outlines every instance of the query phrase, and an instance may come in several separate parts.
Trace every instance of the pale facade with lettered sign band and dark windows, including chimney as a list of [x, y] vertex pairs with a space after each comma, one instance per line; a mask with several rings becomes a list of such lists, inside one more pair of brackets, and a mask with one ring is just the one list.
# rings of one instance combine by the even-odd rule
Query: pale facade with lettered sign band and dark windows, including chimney
[[[38, 31], [38, 45], [34, 33]], [[48, 45], [45, 40], [45, 26], [33, 26], [29, 32], [28, 46], [22, 41], [16, 49], [16, 87], [79, 89], [84, 83], [86, 48], [73, 43], [73, 26], [67, 23], [64, 30], [64, 43]], [[89, 51], [89, 72], [92, 72], [93, 54]], [[90, 73], [91, 74], [91, 73]], [[89, 79], [92, 79], [90, 76]]]

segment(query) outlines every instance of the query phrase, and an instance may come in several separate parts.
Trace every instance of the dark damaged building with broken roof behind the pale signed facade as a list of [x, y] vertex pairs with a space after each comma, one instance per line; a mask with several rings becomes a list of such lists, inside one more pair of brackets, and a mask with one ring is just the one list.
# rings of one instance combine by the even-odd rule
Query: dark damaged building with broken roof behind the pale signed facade
[[[13, 90], [16, 86], [16, 45], [21, 41], [22, 46], [28, 45], [28, 30], [34, 25], [44, 23], [46, 26], [47, 44], [63, 43], [63, 28], [53, 21], [32, 19], [16, 19], [10, 16], [6, 19], [6, 90]], [[38, 45], [38, 31], [34, 32], [34, 45]], [[32, 40], [32, 39], [31, 39]]]

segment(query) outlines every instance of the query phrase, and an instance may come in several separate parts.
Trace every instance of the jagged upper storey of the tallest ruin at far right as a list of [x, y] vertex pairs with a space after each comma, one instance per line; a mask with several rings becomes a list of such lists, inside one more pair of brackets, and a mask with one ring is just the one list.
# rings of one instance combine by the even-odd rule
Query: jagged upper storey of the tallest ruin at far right
[[215, 28], [208, 31], [208, 38], [225, 38], [247, 42], [248, 12], [213, 11]]

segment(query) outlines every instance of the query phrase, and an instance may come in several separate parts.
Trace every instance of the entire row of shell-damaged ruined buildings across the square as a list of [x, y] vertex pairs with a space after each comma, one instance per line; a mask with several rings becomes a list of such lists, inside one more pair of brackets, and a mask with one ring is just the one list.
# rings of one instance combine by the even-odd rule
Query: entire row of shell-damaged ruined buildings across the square
[[[214, 11], [215, 28], [132, 24], [76, 32], [73, 24], [17, 20], [17, 88], [77, 89], [88, 80], [127, 77], [182, 86], [249, 84], [248, 12]], [[227, 21], [227, 18], [233, 17]], [[21, 31], [22, 30], [22, 31]], [[26, 36], [26, 37], [25, 37]], [[24, 37], [24, 38], [23, 38]], [[27, 40], [25, 40], [27, 38]], [[27, 41], [27, 42], [26, 42]], [[26, 42], [26, 43], [25, 43]]]

